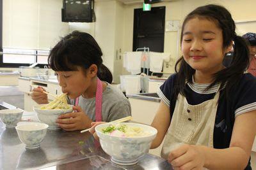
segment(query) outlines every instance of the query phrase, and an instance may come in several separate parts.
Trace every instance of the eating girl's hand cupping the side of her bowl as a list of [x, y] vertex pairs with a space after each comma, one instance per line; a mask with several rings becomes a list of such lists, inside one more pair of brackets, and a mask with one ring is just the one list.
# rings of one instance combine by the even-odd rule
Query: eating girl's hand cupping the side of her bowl
[[73, 106], [76, 112], [60, 115], [56, 123], [65, 131], [78, 131], [91, 127], [92, 120], [84, 113], [80, 106]]

